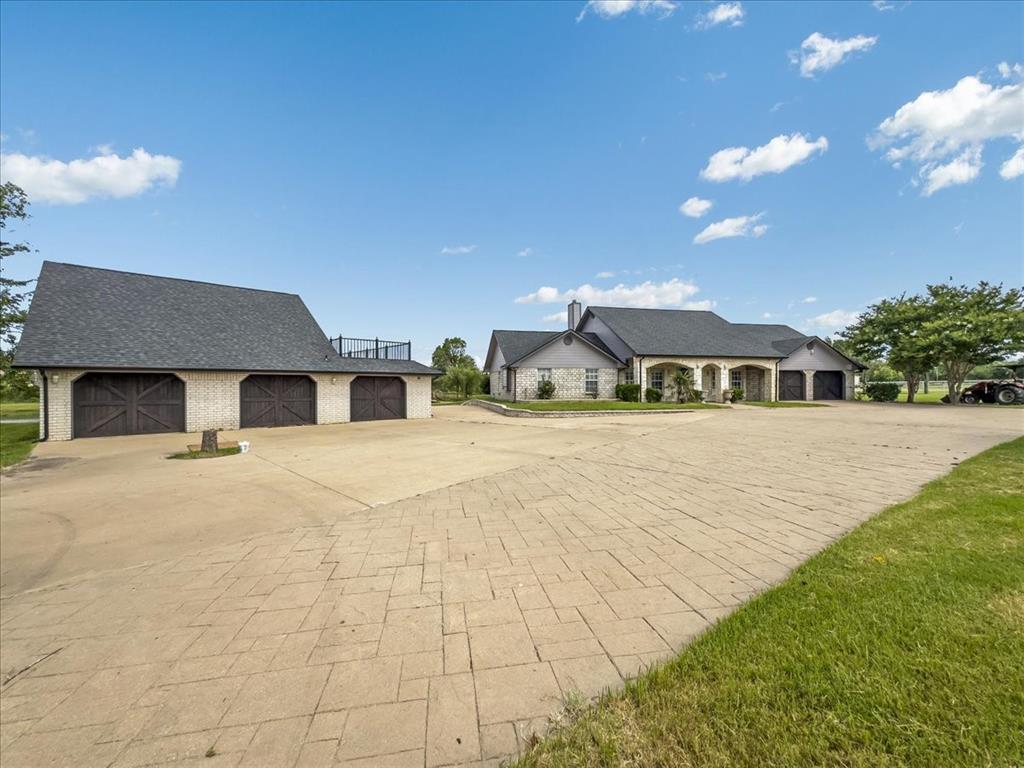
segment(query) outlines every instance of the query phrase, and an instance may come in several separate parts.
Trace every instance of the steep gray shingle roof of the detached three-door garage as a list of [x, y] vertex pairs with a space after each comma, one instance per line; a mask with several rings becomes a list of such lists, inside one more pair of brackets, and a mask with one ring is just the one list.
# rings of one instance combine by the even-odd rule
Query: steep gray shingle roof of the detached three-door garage
[[437, 372], [340, 357], [296, 294], [43, 262], [19, 368]]

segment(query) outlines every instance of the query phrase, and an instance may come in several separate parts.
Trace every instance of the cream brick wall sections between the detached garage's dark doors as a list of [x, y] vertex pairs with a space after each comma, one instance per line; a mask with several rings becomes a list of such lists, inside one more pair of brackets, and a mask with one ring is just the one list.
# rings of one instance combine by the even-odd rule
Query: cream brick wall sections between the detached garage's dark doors
[[[49, 439], [70, 440], [73, 436], [72, 388], [84, 370], [51, 370], [48, 379]], [[239, 429], [242, 380], [248, 373], [237, 371], [176, 371], [185, 384], [185, 430]], [[349, 386], [353, 374], [309, 374], [316, 383], [316, 423], [339, 424], [349, 416]], [[429, 419], [431, 380], [429, 376], [401, 376], [406, 382], [406, 416]], [[43, 430], [40, 421], [40, 434]]]

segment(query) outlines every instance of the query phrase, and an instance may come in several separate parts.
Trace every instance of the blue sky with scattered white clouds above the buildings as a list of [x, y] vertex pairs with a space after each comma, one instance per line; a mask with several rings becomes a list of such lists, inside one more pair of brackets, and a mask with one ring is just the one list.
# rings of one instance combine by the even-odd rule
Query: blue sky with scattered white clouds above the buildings
[[1024, 281], [1022, 29], [1021, 3], [4, 2], [38, 249], [7, 270], [292, 291], [421, 359], [575, 295], [824, 335]]

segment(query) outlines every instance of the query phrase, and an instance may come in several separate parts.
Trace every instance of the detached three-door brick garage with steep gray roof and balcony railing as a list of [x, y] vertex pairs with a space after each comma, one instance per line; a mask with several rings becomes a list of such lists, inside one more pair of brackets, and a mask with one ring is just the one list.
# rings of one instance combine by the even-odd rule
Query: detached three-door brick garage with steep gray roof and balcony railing
[[68, 440], [429, 418], [439, 372], [396, 351], [336, 348], [296, 294], [47, 261], [14, 366]]

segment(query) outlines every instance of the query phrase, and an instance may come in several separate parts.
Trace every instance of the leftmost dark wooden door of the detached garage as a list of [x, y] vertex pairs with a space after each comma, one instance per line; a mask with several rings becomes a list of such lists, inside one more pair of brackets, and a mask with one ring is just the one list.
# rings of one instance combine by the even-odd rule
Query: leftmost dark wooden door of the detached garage
[[185, 385], [171, 374], [86, 374], [72, 394], [76, 437], [185, 429]]

